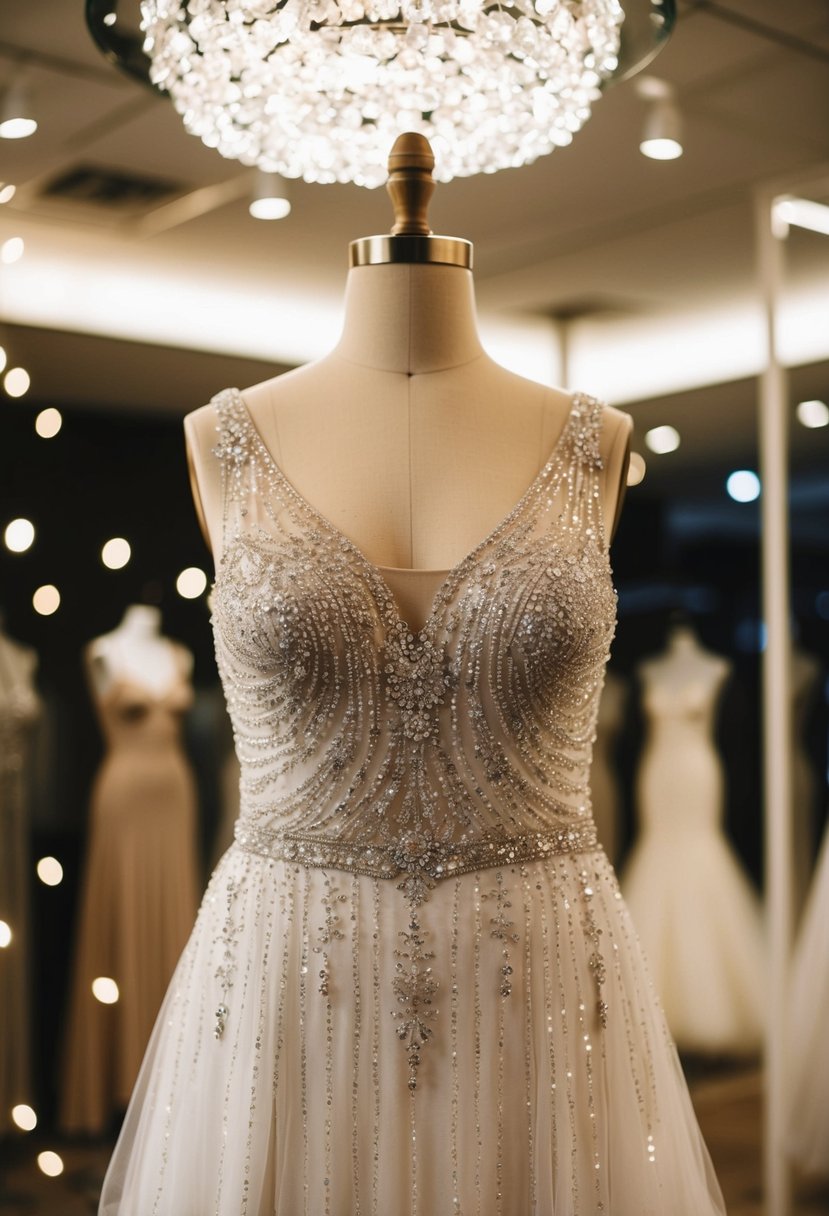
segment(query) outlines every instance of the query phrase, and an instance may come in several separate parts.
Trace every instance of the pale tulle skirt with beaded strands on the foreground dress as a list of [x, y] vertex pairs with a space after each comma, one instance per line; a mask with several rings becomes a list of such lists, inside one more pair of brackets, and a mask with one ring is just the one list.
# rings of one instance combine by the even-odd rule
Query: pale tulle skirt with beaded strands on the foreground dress
[[170, 985], [100, 1212], [724, 1207], [603, 852], [449, 878], [412, 913], [396, 880], [233, 845]]

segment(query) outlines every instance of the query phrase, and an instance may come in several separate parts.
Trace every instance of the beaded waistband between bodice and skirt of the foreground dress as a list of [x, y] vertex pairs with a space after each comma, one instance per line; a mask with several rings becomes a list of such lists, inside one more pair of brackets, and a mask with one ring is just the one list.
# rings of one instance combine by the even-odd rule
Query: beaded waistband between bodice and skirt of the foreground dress
[[483, 835], [462, 843], [438, 840], [421, 828], [405, 832], [391, 845], [356, 844], [314, 833], [270, 832], [244, 820], [237, 821], [235, 835], [241, 849], [275, 861], [346, 869], [370, 878], [407, 874], [429, 886], [452, 874], [536, 861], [554, 854], [591, 852], [599, 846], [592, 820], [545, 832]]

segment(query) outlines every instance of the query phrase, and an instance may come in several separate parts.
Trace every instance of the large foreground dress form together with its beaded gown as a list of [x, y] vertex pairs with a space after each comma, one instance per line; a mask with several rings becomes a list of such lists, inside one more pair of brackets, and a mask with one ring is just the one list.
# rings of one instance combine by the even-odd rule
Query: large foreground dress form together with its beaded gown
[[417, 212], [186, 422], [241, 810], [101, 1216], [723, 1212], [590, 814], [630, 420], [492, 364]]

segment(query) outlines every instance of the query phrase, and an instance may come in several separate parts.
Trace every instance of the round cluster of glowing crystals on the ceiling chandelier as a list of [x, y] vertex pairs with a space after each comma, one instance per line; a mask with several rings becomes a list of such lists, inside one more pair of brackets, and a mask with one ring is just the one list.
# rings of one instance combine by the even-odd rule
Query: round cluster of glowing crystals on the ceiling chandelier
[[404, 130], [435, 178], [569, 143], [617, 66], [619, 0], [143, 0], [151, 79], [187, 130], [306, 181], [385, 181]]

